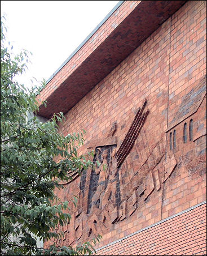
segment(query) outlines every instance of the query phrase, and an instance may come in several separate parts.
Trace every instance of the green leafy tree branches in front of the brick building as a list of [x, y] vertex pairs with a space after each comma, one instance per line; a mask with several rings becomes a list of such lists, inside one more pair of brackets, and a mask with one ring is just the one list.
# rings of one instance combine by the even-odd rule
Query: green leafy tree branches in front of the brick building
[[58, 241], [63, 237], [58, 225], [71, 220], [69, 202], [61, 202], [54, 189], [71, 178], [69, 172], [81, 174], [93, 163], [77, 154], [82, 133], [58, 133], [63, 113], [45, 123], [28, 118], [38, 111], [40, 89], [28, 93], [15, 81], [27, 67], [28, 52], [14, 56], [5, 46], [5, 29], [1, 18], [1, 255], [90, 255], [100, 236], [74, 249], [57, 242], [47, 249], [37, 246], [37, 237]]

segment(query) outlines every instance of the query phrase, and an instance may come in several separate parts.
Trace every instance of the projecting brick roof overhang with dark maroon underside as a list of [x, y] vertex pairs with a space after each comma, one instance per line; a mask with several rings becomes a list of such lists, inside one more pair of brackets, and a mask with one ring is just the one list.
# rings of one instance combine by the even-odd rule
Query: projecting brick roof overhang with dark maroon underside
[[68, 112], [186, 1], [120, 1], [47, 81], [39, 116]]

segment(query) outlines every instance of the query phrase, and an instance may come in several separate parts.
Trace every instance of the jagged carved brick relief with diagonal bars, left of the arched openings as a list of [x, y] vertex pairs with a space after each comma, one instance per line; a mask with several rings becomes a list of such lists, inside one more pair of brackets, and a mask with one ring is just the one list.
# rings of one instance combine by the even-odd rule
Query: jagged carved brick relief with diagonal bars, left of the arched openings
[[[114, 223], [133, 214], [138, 207], [139, 198], [147, 199], [155, 189], [153, 179], [157, 182], [156, 187], [160, 188], [158, 170], [155, 172], [156, 177], [153, 177], [155, 174], [152, 173], [152, 165], [157, 165], [164, 155], [162, 143], [158, 143], [154, 150], [154, 155], [158, 154], [154, 157], [155, 160], [152, 161], [149, 154], [142, 166], [136, 165], [132, 174], [127, 173], [129, 171], [127, 165], [131, 163], [126, 163], [125, 160], [133, 147], [135, 151], [139, 147], [137, 143], [139, 134], [143, 136], [141, 130], [149, 113], [148, 109], [144, 111], [146, 105], [147, 100], [138, 109], [120, 147], [117, 148], [117, 144], [120, 143], [117, 143], [116, 123], [113, 124], [106, 138], [86, 143], [86, 148], [95, 148], [93, 159], [95, 167], [81, 177], [80, 209], [74, 214], [76, 229], [73, 234], [74, 239], [71, 241], [80, 237], [87, 238], [93, 234], [104, 234]], [[138, 158], [135, 160], [140, 161]], [[96, 164], [97, 161], [99, 164]], [[125, 180], [126, 176], [130, 179]]]

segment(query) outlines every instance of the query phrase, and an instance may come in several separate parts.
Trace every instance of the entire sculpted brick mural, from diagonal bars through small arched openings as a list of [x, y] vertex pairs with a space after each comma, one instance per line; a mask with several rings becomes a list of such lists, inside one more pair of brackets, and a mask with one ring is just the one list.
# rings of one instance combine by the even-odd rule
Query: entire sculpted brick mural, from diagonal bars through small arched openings
[[74, 179], [70, 186], [73, 183], [74, 185], [70, 191], [78, 195], [78, 206], [72, 207], [71, 223], [64, 228], [65, 237], [60, 242], [73, 244], [78, 240], [87, 240], [95, 234], [109, 232], [116, 223], [127, 219], [136, 210], [139, 211], [155, 191], [164, 189], [165, 199], [174, 178], [180, 172], [188, 172], [188, 177], [197, 172], [202, 176], [206, 167], [205, 152], [202, 153], [206, 138], [206, 116], [203, 116], [205, 101], [204, 95], [200, 99], [200, 105], [196, 107], [196, 112], [173, 127], [178, 134], [182, 134], [184, 122], [190, 122], [190, 118], [197, 121], [193, 127], [192, 142], [187, 147], [192, 150], [188, 152], [183, 150], [180, 138], [176, 139], [176, 148], [170, 150], [169, 134], [173, 129], [166, 132], [166, 148], [163, 134], [155, 147], [149, 150], [149, 135], [146, 135], [144, 127], [149, 113], [149, 109], [146, 110], [147, 100], [138, 109], [118, 148], [116, 122], [105, 138], [87, 142], [85, 147], [95, 151], [95, 168], [83, 173], [79, 183], [74, 182], [77, 177], [73, 174]]

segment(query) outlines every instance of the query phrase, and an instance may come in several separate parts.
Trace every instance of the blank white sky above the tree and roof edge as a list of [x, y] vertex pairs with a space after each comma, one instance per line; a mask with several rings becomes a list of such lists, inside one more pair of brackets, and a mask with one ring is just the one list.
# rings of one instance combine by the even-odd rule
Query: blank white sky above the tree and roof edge
[[14, 52], [32, 52], [29, 70], [18, 79], [49, 79], [119, 1], [1, 1], [6, 38]]

